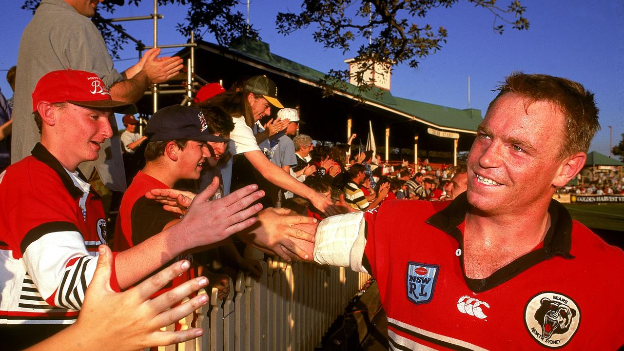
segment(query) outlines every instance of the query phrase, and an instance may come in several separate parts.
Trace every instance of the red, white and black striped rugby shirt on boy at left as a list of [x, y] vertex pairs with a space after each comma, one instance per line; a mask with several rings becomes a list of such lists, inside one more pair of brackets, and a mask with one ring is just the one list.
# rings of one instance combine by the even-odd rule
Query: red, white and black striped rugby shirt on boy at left
[[77, 319], [106, 235], [89, 188], [41, 144], [0, 175], [0, 324]]

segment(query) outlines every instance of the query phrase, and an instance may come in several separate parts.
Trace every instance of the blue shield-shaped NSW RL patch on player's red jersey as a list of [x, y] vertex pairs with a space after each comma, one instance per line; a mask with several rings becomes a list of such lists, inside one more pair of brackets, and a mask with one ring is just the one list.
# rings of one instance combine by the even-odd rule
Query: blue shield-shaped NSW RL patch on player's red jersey
[[407, 262], [407, 299], [416, 305], [430, 302], [439, 269], [439, 265]]

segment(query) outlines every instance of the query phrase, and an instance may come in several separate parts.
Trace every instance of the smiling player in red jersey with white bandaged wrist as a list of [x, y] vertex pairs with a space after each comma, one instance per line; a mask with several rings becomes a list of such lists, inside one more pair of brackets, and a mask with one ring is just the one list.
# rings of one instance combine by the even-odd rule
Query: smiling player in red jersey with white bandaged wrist
[[616, 350], [624, 252], [552, 199], [597, 129], [581, 84], [513, 74], [479, 126], [467, 192], [329, 217], [314, 260], [374, 276], [392, 350]]

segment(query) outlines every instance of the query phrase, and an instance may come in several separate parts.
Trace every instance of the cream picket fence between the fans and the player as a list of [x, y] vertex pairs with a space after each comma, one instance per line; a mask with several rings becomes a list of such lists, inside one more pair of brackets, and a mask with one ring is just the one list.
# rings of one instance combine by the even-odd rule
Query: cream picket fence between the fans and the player
[[[304, 262], [261, 262], [259, 282], [238, 272], [230, 294], [197, 310], [204, 334], [195, 340], [158, 347], [160, 351], [308, 351], [314, 350], [349, 300], [368, 281], [368, 274], [344, 267]], [[200, 294], [206, 294], [200, 290]], [[183, 329], [193, 315], [180, 320]], [[168, 330], [173, 330], [170, 325]]]

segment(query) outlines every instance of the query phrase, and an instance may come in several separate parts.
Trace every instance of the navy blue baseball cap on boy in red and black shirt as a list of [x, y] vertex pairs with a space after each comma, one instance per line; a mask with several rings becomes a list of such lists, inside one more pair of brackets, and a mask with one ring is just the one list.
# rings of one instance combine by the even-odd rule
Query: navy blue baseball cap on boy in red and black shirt
[[145, 134], [150, 141], [187, 139], [228, 142], [228, 139], [210, 134], [202, 111], [180, 105], [167, 106], [156, 111], [147, 122]]

